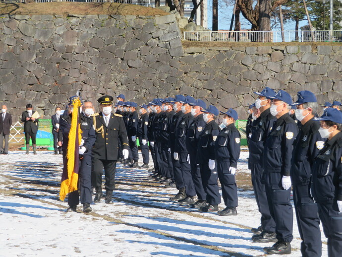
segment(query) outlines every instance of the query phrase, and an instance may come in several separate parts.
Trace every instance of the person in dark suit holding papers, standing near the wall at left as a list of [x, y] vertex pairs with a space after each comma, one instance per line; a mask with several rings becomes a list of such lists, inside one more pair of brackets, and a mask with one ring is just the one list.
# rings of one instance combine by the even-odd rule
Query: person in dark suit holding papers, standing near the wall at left
[[37, 154], [36, 136], [39, 127], [39, 119], [35, 118], [37, 116], [36, 113], [32, 113], [32, 109], [32, 104], [27, 104], [26, 111], [21, 115], [21, 122], [24, 123], [26, 154], [29, 154], [30, 139], [32, 140], [33, 154]]

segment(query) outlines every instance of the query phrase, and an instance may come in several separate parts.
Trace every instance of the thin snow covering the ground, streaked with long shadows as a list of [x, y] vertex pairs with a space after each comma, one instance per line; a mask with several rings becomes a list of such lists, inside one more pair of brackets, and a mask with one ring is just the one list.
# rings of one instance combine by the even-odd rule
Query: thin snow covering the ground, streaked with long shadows
[[[249, 175], [247, 157], [241, 152], [237, 172]], [[15, 151], [0, 162], [1, 257], [265, 256], [263, 247], [273, 244], [250, 239], [250, 228], [260, 225], [252, 191], [239, 189], [237, 216], [202, 213], [170, 201], [177, 190], [148, 178], [148, 171], [118, 163], [113, 205], [103, 200], [90, 214], [82, 206], [66, 213], [67, 202], [58, 199], [61, 155]], [[295, 220], [293, 228], [290, 256], [300, 257]]]

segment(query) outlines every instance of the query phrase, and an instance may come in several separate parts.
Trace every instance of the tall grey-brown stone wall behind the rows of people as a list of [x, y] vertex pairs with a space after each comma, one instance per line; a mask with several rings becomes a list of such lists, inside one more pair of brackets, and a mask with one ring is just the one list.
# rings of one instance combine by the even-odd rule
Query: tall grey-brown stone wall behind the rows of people
[[241, 119], [265, 86], [342, 98], [340, 46], [183, 49], [174, 14], [14, 15], [1, 17], [0, 29], [0, 100], [15, 120], [27, 103], [50, 118], [77, 89], [94, 102], [192, 95]]

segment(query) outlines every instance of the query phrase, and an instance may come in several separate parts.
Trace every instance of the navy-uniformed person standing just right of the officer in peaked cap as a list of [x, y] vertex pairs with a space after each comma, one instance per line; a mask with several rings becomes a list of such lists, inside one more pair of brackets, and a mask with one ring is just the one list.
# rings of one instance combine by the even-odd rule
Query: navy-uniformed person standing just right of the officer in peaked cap
[[127, 130], [129, 148], [131, 149], [131, 152], [132, 152], [132, 161], [133, 161], [133, 163], [129, 165], [130, 168], [139, 168], [139, 165], [138, 165], [139, 154], [138, 154], [138, 146], [136, 142], [138, 121], [139, 121], [137, 107], [138, 105], [136, 103], [130, 102], [129, 110], [131, 112], [131, 115], [129, 116], [128, 130]]

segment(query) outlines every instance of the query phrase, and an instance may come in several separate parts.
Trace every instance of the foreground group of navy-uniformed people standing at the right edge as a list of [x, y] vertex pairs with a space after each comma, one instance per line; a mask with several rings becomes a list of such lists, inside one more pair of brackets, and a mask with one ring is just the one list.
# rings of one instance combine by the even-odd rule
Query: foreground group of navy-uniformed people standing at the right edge
[[326, 102], [322, 107], [327, 109], [317, 118], [317, 99], [310, 91], [298, 92], [295, 103], [284, 90], [254, 93], [258, 98], [250, 106], [248, 165], [261, 226], [252, 229], [253, 242], [275, 242], [264, 248], [267, 254], [291, 253], [292, 185], [302, 256], [322, 256], [320, 221], [328, 238], [328, 256], [341, 256], [342, 113], [336, 108], [340, 104]]

